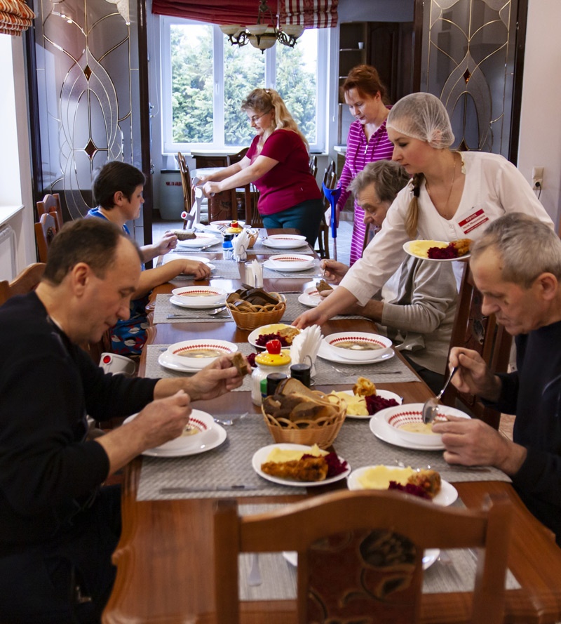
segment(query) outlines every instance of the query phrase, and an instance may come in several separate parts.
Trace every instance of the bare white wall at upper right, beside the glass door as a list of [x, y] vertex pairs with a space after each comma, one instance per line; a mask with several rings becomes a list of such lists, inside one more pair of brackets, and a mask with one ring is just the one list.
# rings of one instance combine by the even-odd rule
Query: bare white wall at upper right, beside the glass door
[[561, 44], [559, 0], [529, 0], [518, 168], [532, 182], [543, 167], [540, 201], [555, 224], [561, 215]]

